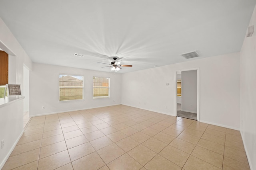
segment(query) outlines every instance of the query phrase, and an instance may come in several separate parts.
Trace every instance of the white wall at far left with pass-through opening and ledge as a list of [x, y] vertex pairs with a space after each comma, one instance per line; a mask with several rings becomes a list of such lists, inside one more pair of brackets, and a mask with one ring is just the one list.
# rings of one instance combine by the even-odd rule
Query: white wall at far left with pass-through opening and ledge
[[[32, 61], [1, 18], [0, 30], [0, 48], [9, 54], [9, 83], [21, 84], [23, 87], [23, 64], [32, 69]], [[23, 100], [2, 107], [0, 109], [0, 141], [4, 140], [5, 146], [0, 150], [0, 169], [11, 154], [22, 131]]]

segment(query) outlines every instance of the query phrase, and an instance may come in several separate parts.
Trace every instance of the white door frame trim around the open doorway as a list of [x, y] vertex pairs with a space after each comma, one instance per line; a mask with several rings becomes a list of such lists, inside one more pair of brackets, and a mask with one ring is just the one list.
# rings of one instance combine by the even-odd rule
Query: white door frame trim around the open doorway
[[[197, 70], [197, 104], [196, 104], [196, 119], [197, 121], [200, 121], [200, 67], [197, 68], [188, 68], [184, 70], [176, 70], [175, 74], [175, 116], [177, 116], [177, 73], [182, 71], [191, 71], [191, 70]], [[181, 82], [182, 83], [182, 82]]]

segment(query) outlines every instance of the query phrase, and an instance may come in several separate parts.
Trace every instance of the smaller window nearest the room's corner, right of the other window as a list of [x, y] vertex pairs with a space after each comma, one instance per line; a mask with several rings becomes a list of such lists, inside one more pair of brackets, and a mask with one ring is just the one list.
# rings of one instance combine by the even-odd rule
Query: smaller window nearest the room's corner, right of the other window
[[93, 98], [109, 98], [109, 78], [93, 77]]

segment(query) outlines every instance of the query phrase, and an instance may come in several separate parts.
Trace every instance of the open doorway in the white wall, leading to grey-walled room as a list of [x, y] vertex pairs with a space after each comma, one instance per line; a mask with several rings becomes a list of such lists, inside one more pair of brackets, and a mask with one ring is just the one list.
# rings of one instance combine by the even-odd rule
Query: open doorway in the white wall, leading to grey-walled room
[[176, 116], [199, 121], [199, 68], [176, 71]]

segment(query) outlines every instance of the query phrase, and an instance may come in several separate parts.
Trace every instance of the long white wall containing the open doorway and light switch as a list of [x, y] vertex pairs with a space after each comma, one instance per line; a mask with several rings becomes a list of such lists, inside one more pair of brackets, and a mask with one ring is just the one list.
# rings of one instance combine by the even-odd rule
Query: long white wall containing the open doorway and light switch
[[[240, 53], [122, 74], [122, 104], [175, 115], [176, 71], [198, 67], [199, 120], [239, 129]], [[166, 83], [170, 83], [170, 86], [166, 86]]]

